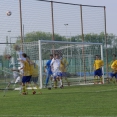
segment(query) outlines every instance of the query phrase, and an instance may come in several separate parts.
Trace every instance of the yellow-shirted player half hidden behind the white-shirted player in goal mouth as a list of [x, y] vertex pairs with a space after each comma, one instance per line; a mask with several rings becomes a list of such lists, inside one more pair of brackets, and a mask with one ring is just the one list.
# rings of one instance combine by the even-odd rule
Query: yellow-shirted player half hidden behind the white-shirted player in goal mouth
[[66, 58], [61, 57], [61, 62], [60, 62], [60, 71], [62, 72], [62, 78], [64, 77], [65, 80], [67, 81], [68, 86], [70, 85], [70, 83], [68, 82], [67, 79], [67, 73], [66, 73], [66, 67], [68, 65], [68, 62], [66, 60]]

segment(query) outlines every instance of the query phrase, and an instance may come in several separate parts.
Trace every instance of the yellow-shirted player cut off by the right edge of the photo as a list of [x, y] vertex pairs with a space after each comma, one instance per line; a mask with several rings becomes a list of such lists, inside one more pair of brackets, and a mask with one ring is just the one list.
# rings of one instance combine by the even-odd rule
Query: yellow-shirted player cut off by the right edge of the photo
[[[113, 62], [116, 61], [116, 55], [113, 54], [112, 56], [113, 56], [113, 60], [111, 61], [110, 65], [109, 65], [110, 68], [111, 68], [111, 65], [113, 64]], [[109, 79], [109, 81], [110, 82], [113, 81], [114, 77], [117, 79], [117, 71], [111, 68], [111, 73], [110, 73], [110, 79]], [[113, 82], [115, 82], [115, 81], [113, 81]]]

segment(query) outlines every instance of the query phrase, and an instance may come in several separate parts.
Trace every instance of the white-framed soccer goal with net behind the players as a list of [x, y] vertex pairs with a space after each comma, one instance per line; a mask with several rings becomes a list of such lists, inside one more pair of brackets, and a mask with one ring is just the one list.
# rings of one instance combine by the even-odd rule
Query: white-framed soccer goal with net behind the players
[[[38, 42], [24, 43], [23, 52], [27, 53], [39, 66], [39, 84], [41, 88], [45, 85], [46, 73], [44, 72], [44, 66], [49, 60], [50, 54], [57, 53], [67, 60], [66, 77], [70, 85], [93, 84], [95, 55], [100, 55], [103, 60], [102, 43], [39, 40]], [[104, 74], [104, 69], [102, 68], [102, 70]], [[66, 85], [64, 78], [63, 84]]]

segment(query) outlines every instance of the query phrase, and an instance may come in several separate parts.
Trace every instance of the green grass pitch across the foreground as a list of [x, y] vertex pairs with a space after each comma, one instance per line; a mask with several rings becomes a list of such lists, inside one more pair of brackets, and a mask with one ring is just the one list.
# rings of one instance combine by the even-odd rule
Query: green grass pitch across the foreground
[[117, 116], [117, 86], [91, 85], [42, 89], [42, 95], [0, 91], [0, 117]]

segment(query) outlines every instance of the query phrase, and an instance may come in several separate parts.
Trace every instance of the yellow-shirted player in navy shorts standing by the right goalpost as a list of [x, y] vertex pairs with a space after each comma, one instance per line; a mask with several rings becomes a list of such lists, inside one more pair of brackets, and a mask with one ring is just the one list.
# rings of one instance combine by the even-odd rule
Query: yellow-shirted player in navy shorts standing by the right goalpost
[[104, 65], [104, 62], [100, 59], [99, 55], [96, 55], [96, 60], [94, 61], [94, 84], [97, 84], [98, 77], [100, 78], [101, 84], [103, 84], [102, 81], [102, 66]]

